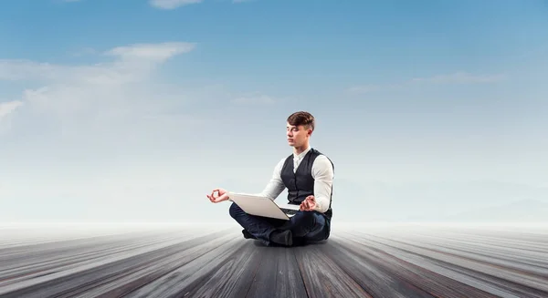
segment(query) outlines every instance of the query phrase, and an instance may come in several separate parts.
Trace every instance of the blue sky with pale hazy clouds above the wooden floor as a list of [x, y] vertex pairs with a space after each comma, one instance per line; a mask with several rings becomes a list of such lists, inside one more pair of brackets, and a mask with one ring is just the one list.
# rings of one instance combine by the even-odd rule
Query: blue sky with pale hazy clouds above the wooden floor
[[301, 109], [335, 163], [342, 221], [548, 203], [547, 13], [543, 1], [3, 1], [0, 216], [229, 221], [205, 193], [262, 190]]

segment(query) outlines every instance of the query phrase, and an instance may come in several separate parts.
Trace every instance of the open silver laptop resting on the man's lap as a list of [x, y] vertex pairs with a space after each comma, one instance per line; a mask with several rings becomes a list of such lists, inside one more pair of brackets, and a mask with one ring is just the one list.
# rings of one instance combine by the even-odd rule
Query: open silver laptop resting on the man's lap
[[248, 214], [290, 221], [297, 214], [299, 205], [277, 204], [274, 200], [258, 195], [228, 192], [228, 197]]

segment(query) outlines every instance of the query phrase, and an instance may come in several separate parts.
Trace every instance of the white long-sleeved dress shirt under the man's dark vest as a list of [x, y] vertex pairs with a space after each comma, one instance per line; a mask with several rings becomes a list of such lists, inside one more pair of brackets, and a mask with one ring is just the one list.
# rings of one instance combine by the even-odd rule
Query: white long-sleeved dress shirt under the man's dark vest
[[[311, 147], [304, 150], [300, 154], [293, 153], [293, 172], [297, 170], [300, 165], [300, 161], [310, 151]], [[287, 158], [279, 160], [278, 164], [274, 168], [272, 178], [269, 184], [265, 187], [260, 196], [267, 197], [270, 200], [276, 200], [279, 194], [285, 190], [285, 185], [281, 180], [281, 168]], [[316, 200], [316, 207], [314, 211], [325, 212], [329, 209], [329, 203], [332, 194], [334, 172], [332, 163], [324, 155], [319, 155], [314, 159], [312, 164], [312, 178], [314, 179], [314, 199]]]

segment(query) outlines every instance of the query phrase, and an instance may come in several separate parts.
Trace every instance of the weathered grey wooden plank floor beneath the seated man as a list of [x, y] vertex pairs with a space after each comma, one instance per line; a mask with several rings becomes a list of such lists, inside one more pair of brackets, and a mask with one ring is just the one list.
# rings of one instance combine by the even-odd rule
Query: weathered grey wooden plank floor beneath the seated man
[[335, 224], [294, 248], [234, 225], [0, 229], [0, 297], [121, 296], [545, 298], [548, 229]]

